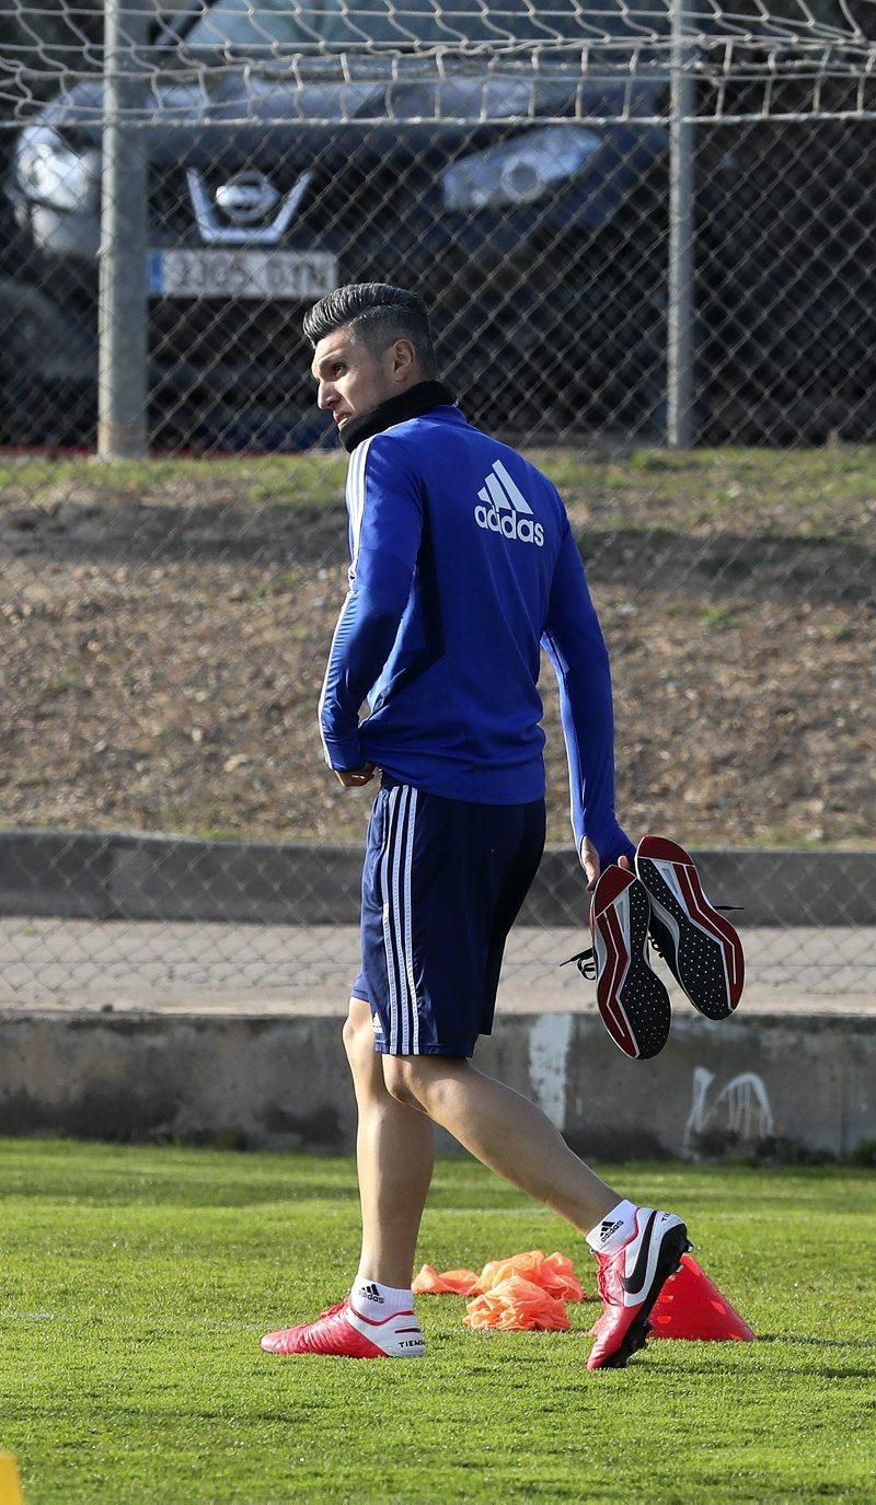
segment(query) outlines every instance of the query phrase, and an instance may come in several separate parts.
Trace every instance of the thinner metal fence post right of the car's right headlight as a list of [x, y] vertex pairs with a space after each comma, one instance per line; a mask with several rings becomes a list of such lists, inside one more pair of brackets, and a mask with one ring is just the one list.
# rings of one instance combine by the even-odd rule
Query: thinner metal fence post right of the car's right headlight
[[694, 439], [694, 48], [688, 0], [671, 0], [670, 245], [667, 325], [667, 442]]

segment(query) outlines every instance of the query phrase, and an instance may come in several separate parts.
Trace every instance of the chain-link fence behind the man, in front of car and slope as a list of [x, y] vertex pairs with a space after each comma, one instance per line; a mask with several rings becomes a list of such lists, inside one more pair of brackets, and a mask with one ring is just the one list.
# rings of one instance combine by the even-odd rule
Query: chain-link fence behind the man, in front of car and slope
[[[301, 316], [372, 278], [567, 501], [628, 829], [739, 853], [754, 977], [871, 986], [867, 862], [817, 862], [873, 835], [871, 12], [0, 11], [8, 989], [346, 984], [345, 461]], [[584, 911], [545, 695], [531, 977]]]

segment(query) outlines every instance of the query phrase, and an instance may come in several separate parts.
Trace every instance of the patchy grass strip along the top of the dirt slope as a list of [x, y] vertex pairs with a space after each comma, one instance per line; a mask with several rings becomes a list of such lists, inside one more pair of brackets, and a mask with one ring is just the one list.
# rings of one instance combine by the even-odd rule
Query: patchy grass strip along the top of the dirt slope
[[[563, 492], [572, 516], [599, 531], [655, 528], [762, 539], [847, 539], [873, 546], [876, 445], [820, 448], [637, 448], [623, 458], [581, 447], [527, 448]], [[232, 459], [95, 462], [0, 455], [0, 507], [53, 507], [72, 498], [187, 507], [287, 506], [310, 515], [342, 507], [346, 455], [241, 455]]]

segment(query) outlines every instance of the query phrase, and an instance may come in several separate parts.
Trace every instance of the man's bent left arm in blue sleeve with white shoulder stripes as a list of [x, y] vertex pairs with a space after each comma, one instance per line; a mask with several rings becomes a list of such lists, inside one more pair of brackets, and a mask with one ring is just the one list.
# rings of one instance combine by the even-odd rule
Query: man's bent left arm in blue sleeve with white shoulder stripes
[[396, 641], [423, 531], [420, 482], [405, 445], [378, 433], [364, 455], [354, 451], [351, 476], [351, 585], [319, 697], [325, 762], [339, 775], [364, 766], [358, 712]]

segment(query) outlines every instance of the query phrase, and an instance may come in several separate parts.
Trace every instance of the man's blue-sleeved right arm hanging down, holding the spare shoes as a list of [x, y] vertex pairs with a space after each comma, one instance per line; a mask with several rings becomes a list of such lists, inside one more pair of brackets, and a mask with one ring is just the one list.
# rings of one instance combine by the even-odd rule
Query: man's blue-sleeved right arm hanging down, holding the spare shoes
[[542, 638], [560, 686], [560, 716], [569, 759], [575, 849], [589, 868], [631, 858], [635, 847], [614, 814], [614, 710], [608, 650], [581, 555], [564, 519]]

